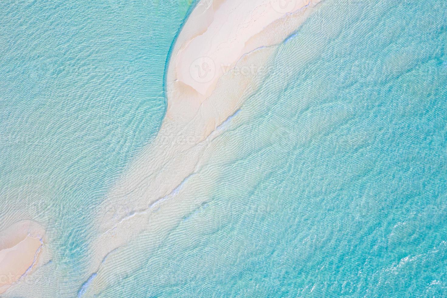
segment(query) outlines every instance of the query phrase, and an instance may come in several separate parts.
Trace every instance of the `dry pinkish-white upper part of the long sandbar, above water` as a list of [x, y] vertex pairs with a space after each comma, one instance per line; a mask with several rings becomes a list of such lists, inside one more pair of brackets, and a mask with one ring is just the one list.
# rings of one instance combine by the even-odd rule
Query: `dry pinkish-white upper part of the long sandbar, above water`
[[208, 97], [225, 70], [233, 68], [243, 55], [255, 50], [257, 45], [249, 43], [251, 38], [309, 2], [202, 1], [183, 28], [179, 38], [182, 46], [172, 60], [178, 81]]

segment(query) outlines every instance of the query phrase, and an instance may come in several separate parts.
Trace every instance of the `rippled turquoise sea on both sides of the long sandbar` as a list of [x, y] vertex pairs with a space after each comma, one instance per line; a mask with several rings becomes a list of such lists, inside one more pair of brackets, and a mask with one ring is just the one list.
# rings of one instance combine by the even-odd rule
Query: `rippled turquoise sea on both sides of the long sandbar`
[[[160, 125], [186, 13], [122, 4], [0, 4], [0, 217], [50, 221], [63, 297], [88, 210]], [[202, 204], [99, 296], [446, 296], [446, 11], [320, 4], [214, 141]]]

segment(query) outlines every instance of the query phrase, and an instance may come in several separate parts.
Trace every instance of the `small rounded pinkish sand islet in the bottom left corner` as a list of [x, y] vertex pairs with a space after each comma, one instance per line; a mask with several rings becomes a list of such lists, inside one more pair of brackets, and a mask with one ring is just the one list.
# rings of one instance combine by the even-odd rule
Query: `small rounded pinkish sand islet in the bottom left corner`
[[34, 221], [20, 221], [0, 232], [0, 294], [34, 269], [44, 232]]

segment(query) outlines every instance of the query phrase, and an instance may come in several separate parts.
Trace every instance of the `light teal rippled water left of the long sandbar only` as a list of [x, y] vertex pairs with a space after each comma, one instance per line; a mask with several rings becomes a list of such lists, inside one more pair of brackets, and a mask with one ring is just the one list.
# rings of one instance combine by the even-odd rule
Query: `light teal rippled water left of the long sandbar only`
[[95, 207], [163, 119], [174, 4], [0, 3], [1, 227], [49, 227], [63, 294], [83, 282]]

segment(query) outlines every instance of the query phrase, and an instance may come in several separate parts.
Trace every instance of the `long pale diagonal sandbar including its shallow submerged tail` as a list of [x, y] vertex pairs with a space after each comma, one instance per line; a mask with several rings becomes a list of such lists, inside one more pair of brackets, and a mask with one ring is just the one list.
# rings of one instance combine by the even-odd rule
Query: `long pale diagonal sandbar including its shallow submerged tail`
[[[162, 230], [175, 225], [182, 188], [200, 175], [202, 155], [219, 136], [219, 126], [261, 84], [259, 69], [318, 2], [202, 0], [197, 4], [169, 60], [168, 108], [160, 131], [97, 211], [99, 235], [89, 272], [89, 276], [98, 273], [92, 285], [95, 293], [110, 282], [101, 275], [114, 258], [127, 259], [117, 249], [144, 231], [159, 239]], [[175, 209], [164, 210], [164, 202], [174, 199]]]

